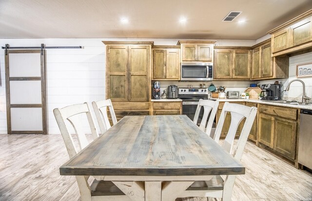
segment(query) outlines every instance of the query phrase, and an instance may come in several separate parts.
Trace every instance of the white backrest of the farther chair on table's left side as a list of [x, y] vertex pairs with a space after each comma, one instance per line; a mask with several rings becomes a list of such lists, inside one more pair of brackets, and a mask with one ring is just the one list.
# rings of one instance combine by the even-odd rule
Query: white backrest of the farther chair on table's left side
[[113, 125], [117, 123], [117, 118], [115, 115], [113, 104], [110, 99], [101, 100], [101, 101], [93, 101], [92, 106], [93, 106], [94, 112], [98, 120], [98, 125], [101, 131], [101, 134], [105, 133], [111, 127], [111, 124], [108, 120], [107, 107], [109, 108], [112, 121], [113, 121]]

